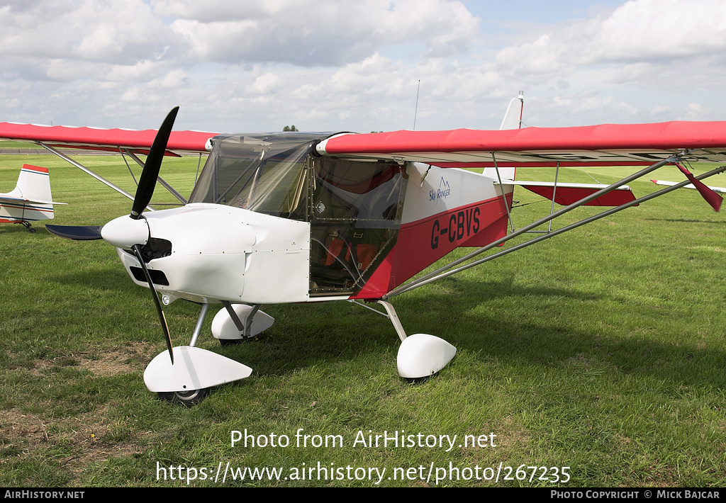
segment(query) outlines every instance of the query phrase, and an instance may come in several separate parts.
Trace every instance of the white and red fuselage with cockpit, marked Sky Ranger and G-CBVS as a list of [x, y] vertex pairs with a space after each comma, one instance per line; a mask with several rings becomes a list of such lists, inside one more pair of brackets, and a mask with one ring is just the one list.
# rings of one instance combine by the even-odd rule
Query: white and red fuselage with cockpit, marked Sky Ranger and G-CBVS
[[[381, 298], [455, 248], [506, 232], [511, 192], [493, 179], [319, 156], [326, 136], [216, 137], [189, 204], [144, 214], [144, 261], [164, 303]], [[147, 286], [124, 248], [129, 275]]]

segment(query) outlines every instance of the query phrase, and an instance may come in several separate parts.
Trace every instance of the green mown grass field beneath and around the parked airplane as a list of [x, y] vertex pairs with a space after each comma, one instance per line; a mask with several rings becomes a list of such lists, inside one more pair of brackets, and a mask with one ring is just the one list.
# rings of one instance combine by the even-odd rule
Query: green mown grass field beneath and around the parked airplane
[[[134, 192], [120, 157], [82, 162]], [[47, 155], [0, 155], [0, 192], [15, 187], [23, 163], [50, 168], [54, 200], [69, 203], [56, 207], [55, 224], [100, 225], [129, 213], [129, 200]], [[197, 158], [169, 159], [161, 175], [188, 195], [196, 168]], [[592, 181], [564, 171], [560, 180]], [[604, 183], [631, 171], [588, 173]], [[682, 179], [672, 168], [656, 175]], [[726, 177], [707, 183], [726, 187]], [[632, 187], [656, 190], [649, 181]], [[173, 201], [161, 187], [156, 196]], [[515, 210], [519, 226], [549, 210], [526, 191], [515, 200], [534, 203]], [[199, 345], [253, 374], [192, 409], [144, 387], [144, 367], [164, 343], [149, 293], [126, 276], [115, 250], [35, 227], [0, 226], [0, 486], [221, 486], [211, 479], [227, 463], [279, 468], [280, 480], [227, 475], [224, 486], [726, 480], [726, 221], [696, 191], [395, 298], [408, 333], [457, 347], [449, 367], [423, 384], [397, 376], [389, 322], [349, 303], [264, 306], [274, 326], [226, 348], [211, 337], [209, 316]], [[197, 314], [182, 301], [166, 308], [175, 344], [189, 343]], [[267, 445], [232, 446], [232, 431], [245, 429]], [[310, 435], [308, 446], [297, 445], [298, 431]], [[415, 435], [416, 445], [368, 445], [368, 435], [385, 432]], [[289, 445], [280, 446], [284, 435]], [[310, 445], [326, 435], [328, 446]], [[457, 439], [449, 449], [428, 435]], [[463, 446], [464, 435], [486, 437]], [[513, 470], [488, 480], [500, 466]]]

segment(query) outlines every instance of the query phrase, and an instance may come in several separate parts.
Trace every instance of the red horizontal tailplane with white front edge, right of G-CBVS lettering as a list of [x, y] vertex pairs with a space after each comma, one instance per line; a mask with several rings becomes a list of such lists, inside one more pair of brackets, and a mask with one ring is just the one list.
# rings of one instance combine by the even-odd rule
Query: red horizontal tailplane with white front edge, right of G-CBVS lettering
[[[598, 190], [605, 189], [608, 185], [603, 184], [566, 184], [558, 183], [555, 189], [554, 182], [551, 181], [506, 181], [505, 185], [518, 185], [524, 187], [537, 195], [541, 195], [549, 200], [552, 199], [552, 193], [555, 195], [555, 203], [558, 205], [571, 205], [577, 203], [583, 197], [595, 194]], [[629, 186], [624, 185], [605, 195], [601, 195], [593, 199], [585, 206], [620, 206], [635, 201], [635, 194]], [[637, 206], [637, 205], [635, 205]]]

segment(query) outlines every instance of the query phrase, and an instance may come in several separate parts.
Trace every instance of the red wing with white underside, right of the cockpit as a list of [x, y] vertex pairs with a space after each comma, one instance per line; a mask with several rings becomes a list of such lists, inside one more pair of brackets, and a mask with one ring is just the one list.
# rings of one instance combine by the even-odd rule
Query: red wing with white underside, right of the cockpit
[[[323, 155], [418, 161], [449, 167], [650, 165], [688, 149], [688, 160], [726, 160], [726, 121], [603, 124], [506, 131], [393, 131], [343, 134]], [[466, 164], [462, 164], [466, 163]]]

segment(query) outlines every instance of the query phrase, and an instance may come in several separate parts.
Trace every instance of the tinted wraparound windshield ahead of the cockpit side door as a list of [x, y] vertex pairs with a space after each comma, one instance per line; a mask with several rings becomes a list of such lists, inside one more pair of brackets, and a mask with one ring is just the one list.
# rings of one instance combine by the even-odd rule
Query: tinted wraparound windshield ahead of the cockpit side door
[[328, 134], [274, 133], [216, 136], [189, 203], [236, 206], [295, 218], [304, 210], [304, 167], [312, 142]]

